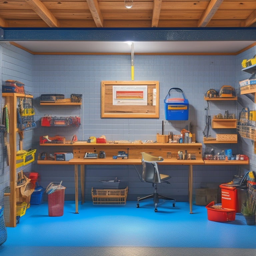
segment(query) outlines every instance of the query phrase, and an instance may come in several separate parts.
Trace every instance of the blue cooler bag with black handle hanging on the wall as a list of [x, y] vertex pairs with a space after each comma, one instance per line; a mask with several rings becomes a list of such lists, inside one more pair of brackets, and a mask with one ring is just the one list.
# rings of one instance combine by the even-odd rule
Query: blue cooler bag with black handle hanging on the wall
[[[170, 91], [175, 90], [172, 96], [177, 93], [183, 98], [172, 98]], [[188, 120], [188, 100], [180, 88], [171, 88], [164, 99], [164, 111], [166, 120]]]

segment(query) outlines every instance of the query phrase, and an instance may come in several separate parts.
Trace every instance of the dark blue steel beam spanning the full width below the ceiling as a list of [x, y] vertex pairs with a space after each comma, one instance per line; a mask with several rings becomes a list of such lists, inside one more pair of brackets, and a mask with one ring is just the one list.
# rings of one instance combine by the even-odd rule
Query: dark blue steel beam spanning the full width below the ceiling
[[250, 28], [0, 28], [0, 41], [255, 41]]

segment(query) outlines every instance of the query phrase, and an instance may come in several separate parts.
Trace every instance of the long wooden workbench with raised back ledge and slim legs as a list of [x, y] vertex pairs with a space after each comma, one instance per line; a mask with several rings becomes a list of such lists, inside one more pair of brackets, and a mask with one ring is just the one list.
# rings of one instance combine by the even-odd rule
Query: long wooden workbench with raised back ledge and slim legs
[[[204, 161], [202, 160], [201, 143], [129, 143], [129, 144], [108, 144], [108, 143], [87, 143], [78, 141], [72, 144], [73, 159], [69, 161], [37, 161], [38, 164], [71, 164], [75, 167], [75, 208], [78, 213], [78, 165], [80, 165], [81, 175], [81, 203], [84, 203], [84, 166], [85, 165], [140, 165], [141, 152], [146, 152], [154, 156], [164, 158], [159, 165], [187, 165], [188, 166], [188, 197], [190, 213], [192, 212], [192, 189], [193, 189], [193, 165], [240, 165], [248, 164], [249, 161]], [[194, 154], [195, 160], [177, 160], [178, 151], [187, 150], [187, 153]], [[106, 158], [84, 159], [84, 154], [98, 153], [104, 151]], [[128, 159], [113, 159], [118, 151], [128, 153]]]

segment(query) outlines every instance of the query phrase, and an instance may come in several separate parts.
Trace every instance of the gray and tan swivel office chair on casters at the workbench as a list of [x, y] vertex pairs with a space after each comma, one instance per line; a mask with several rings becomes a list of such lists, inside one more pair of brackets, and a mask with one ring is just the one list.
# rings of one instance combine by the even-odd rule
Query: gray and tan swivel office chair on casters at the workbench
[[137, 208], [140, 207], [139, 201], [148, 199], [148, 198], [154, 199], [155, 212], [157, 212], [157, 203], [159, 202], [159, 198], [166, 199], [166, 200], [173, 200], [174, 203], [172, 204], [172, 206], [174, 207], [175, 206], [174, 198], [163, 196], [157, 193], [157, 183], [166, 182], [170, 184], [170, 182], [168, 182], [167, 180], [170, 179], [171, 176], [160, 174], [157, 167], [157, 162], [161, 162], [164, 159], [162, 157], [155, 157], [144, 152], [142, 152], [141, 154], [142, 154], [142, 159], [141, 159], [142, 173], [139, 174], [139, 178], [142, 182], [152, 183], [153, 187], [155, 187], [155, 191], [154, 191], [154, 194], [152, 195], [138, 197]]

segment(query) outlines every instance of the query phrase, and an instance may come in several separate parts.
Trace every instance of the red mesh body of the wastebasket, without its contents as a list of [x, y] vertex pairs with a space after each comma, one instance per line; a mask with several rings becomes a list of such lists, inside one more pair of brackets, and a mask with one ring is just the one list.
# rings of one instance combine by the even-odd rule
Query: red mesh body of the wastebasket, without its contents
[[56, 189], [48, 194], [48, 215], [50, 217], [59, 217], [63, 215], [65, 188]]

